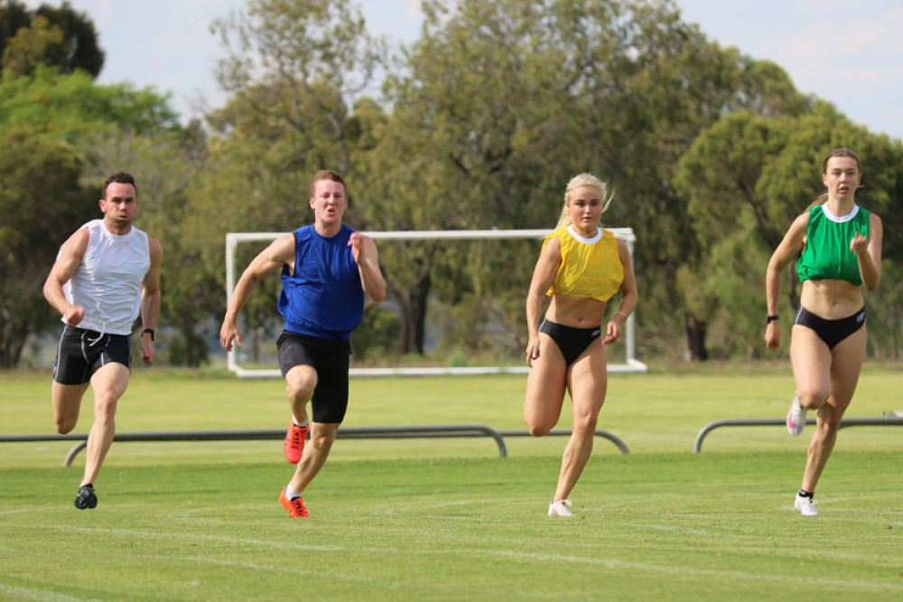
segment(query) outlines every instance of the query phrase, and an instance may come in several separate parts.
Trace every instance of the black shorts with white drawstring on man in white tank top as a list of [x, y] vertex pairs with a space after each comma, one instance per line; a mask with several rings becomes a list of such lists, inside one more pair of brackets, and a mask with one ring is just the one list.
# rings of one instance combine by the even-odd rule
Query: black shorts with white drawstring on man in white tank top
[[60, 384], [85, 384], [101, 367], [112, 362], [132, 369], [128, 335], [101, 334], [67, 325], [60, 335], [53, 380]]

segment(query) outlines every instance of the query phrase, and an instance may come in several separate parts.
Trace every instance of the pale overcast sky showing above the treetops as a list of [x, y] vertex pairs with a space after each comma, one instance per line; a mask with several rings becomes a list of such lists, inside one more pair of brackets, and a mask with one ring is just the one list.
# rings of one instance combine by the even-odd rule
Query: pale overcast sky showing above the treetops
[[[27, 0], [35, 7], [61, 0]], [[213, 71], [221, 54], [209, 23], [244, 0], [70, 0], [95, 23], [107, 53], [99, 83], [131, 81], [172, 94], [187, 120], [224, 101]], [[418, 0], [362, 0], [372, 32], [419, 35]], [[722, 46], [773, 60], [796, 88], [832, 102], [872, 132], [903, 138], [903, 3], [899, 0], [677, 0], [684, 21]]]

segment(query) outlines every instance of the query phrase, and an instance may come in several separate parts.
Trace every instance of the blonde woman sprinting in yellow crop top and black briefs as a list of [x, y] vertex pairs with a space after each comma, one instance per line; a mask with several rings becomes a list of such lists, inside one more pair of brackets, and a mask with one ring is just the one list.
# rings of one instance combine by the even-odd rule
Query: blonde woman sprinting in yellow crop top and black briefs
[[[526, 298], [527, 429], [535, 437], [552, 430], [561, 417], [565, 390], [573, 406], [573, 432], [549, 516], [573, 516], [567, 497], [590, 458], [605, 402], [604, 346], [618, 340], [637, 304], [627, 245], [600, 228], [609, 201], [605, 184], [589, 173], [568, 182], [562, 218], [545, 240]], [[605, 308], [616, 292], [621, 293], [620, 305], [603, 334]], [[546, 294], [552, 301], [540, 323]]]

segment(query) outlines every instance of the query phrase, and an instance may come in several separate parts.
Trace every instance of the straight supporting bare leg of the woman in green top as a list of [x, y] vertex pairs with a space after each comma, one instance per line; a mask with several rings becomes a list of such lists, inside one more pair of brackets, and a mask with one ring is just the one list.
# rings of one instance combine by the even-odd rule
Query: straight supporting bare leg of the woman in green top
[[852, 396], [859, 383], [862, 361], [865, 357], [866, 329], [863, 327], [833, 347], [831, 362], [831, 396], [819, 409], [815, 419], [815, 432], [806, 450], [805, 473], [802, 488], [815, 491], [822, 476], [837, 431], [840, 430], [843, 412], [850, 407]]

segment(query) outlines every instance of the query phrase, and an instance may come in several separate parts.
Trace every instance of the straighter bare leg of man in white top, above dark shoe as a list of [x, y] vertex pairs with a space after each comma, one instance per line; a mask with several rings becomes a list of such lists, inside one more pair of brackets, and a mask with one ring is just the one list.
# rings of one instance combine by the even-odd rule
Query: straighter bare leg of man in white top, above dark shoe
[[107, 457], [107, 451], [116, 434], [116, 406], [122, 394], [126, 393], [130, 374], [125, 365], [111, 362], [91, 376], [91, 388], [94, 389], [94, 423], [88, 433], [85, 476], [81, 480], [81, 485], [95, 482], [104, 458]]

